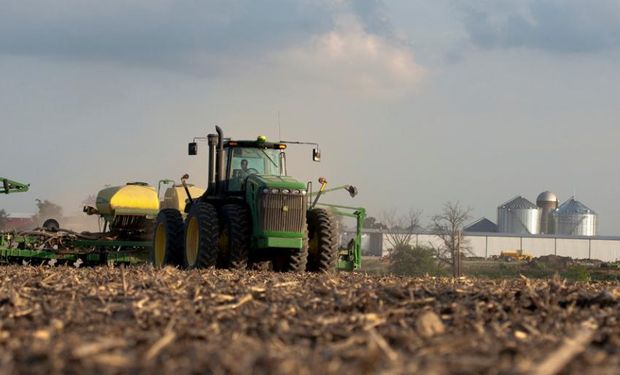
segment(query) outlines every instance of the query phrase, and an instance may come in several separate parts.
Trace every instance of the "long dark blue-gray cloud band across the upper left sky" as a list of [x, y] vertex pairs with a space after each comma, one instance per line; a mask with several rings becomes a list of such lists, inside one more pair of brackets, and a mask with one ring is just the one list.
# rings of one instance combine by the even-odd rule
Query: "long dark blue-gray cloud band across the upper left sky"
[[0, 54], [153, 65], [260, 58], [334, 28], [387, 32], [378, 0], [42, 0], [0, 5]]

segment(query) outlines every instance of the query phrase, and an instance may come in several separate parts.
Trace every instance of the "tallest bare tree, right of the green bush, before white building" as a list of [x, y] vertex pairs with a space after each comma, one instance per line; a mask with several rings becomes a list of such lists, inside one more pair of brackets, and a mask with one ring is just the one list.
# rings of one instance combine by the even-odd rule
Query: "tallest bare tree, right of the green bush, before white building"
[[431, 229], [441, 239], [437, 257], [452, 266], [454, 277], [461, 275], [461, 256], [469, 251], [463, 226], [470, 219], [470, 213], [471, 208], [464, 208], [459, 202], [447, 202], [441, 213], [432, 218]]

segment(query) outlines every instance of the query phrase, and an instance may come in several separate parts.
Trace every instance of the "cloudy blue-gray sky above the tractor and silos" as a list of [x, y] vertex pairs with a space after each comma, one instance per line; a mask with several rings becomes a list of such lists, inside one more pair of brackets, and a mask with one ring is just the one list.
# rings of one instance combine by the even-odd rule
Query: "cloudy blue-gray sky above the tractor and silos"
[[620, 235], [619, 103], [619, 0], [0, 0], [0, 207], [204, 184], [218, 124], [319, 142], [289, 172], [374, 216], [551, 190]]

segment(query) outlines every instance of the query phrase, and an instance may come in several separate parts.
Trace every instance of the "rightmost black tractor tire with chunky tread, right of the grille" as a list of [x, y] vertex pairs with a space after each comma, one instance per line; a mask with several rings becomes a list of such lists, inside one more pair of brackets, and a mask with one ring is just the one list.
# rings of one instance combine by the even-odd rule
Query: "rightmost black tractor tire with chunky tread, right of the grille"
[[308, 211], [308, 232], [307, 271], [335, 272], [339, 246], [338, 229], [334, 216], [323, 208]]

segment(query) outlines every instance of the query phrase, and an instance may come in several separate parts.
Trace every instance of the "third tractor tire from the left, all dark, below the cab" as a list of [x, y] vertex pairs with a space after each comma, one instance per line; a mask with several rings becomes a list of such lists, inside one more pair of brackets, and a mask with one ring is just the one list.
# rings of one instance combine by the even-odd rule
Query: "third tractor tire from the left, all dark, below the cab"
[[252, 227], [250, 212], [238, 204], [226, 204], [220, 210], [220, 265], [245, 270], [250, 259]]

